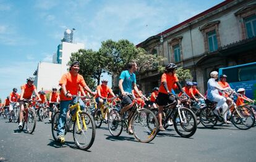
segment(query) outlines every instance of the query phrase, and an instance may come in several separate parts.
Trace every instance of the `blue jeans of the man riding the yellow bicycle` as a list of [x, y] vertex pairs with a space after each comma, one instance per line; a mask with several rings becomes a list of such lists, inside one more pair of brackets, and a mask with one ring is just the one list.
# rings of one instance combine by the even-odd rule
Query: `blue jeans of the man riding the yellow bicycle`
[[[65, 132], [65, 123], [66, 123], [66, 115], [67, 115], [67, 110], [69, 110], [69, 104], [75, 104], [77, 103], [77, 97], [75, 97], [72, 100], [62, 100], [61, 101], [61, 113], [59, 115], [59, 124], [58, 124], [58, 129], [57, 129], [57, 136], [63, 135]], [[81, 110], [85, 109], [85, 103], [81, 99], [79, 99], [80, 103], [80, 108]]]

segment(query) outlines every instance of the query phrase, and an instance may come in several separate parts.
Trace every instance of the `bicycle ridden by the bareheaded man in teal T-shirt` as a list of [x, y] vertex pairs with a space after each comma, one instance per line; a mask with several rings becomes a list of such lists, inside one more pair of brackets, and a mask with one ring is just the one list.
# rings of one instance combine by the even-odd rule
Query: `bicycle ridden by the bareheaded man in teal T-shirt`
[[130, 108], [129, 115], [127, 111], [124, 113], [123, 119], [120, 118], [119, 110], [116, 108], [109, 112], [109, 132], [115, 137], [120, 136], [123, 129], [128, 133], [129, 123], [131, 122], [135, 139], [147, 143], [156, 137], [159, 129], [158, 121], [152, 111], [140, 108], [136, 101], [136, 99], [133, 100], [134, 106]]

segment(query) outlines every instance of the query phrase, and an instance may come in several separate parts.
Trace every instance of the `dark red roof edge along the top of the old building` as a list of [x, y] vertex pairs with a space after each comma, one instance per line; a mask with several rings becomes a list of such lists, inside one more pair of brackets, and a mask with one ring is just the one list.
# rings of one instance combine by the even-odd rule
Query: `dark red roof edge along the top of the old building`
[[[220, 9], [220, 7], [223, 7], [223, 6], [225, 6], [226, 4], [229, 4], [230, 2], [233, 2], [233, 1], [235, 1], [235, 0], [226, 0], [226, 1], [223, 1], [223, 2], [221, 2], [220, 4], [217, 4], [216, 6], [213, 6], [213, 7], [211, 7], [210, 9], [207, 9], [207, 10], [201, 12], [200, 14], [195, 15], [194, 17], [191, 17], [191, 18], [185, 20], [184, 22], [181, 22], [181, 23], [179, 23], [179, 24], [177, 24], [177, 25], [175, 25], [175, 26], [169, 28], [168, 30], [164, 30], [163, 32], [156, 34], [156, 36], [161, 36], [161, 34], [167, 34], [167, 33], [171, 32], [171, 31], [173, 31], [173, 30], [176, 30], [177, 28], [181, 27], [182, 25], [186, 25], [187, 23], [190, 23], [190, 22], [196, 20], [197, 18], [203, 17], [204, 15], [207, 15], [207, 14], [209, 14], [210, 12], [213, 12], [213, 11], [216, 10], [216, 9]], [[144, 42], [144, 41], [143, 41], [143, 42]], [[143, 42], [137, 44], [136, 47], [140, 47]]]

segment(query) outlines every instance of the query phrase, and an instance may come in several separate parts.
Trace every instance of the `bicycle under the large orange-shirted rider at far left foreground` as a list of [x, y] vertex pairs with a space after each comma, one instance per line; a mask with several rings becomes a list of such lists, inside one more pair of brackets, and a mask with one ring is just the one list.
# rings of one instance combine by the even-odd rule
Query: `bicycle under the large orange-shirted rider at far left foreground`
[[32, 134], [36, 127], [36, 113], [35, 110], [30, 107], [32, 100], [23, 99], [23, 102], [25, 102], [25, 105], [22, 118], [22, 128], [20, 128], [20, 131], [23, 131], [26, 126], [27, 133]]

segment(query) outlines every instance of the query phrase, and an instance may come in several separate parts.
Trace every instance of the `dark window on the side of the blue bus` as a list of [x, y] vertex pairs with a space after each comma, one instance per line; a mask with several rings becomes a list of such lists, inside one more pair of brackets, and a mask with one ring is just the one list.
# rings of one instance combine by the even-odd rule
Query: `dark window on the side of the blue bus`
[[256, 80], [256, 65], [252, 67], [242, 67], [238, 70], [239, 81]]

